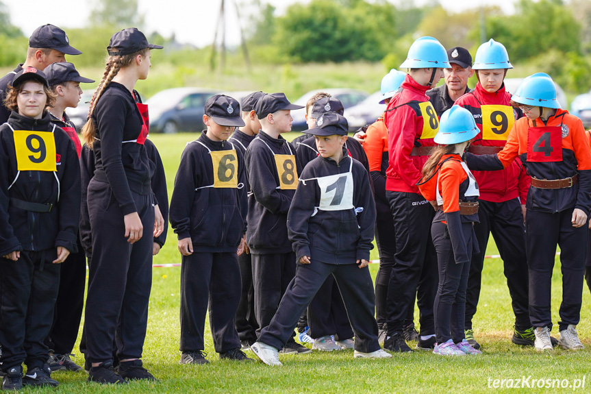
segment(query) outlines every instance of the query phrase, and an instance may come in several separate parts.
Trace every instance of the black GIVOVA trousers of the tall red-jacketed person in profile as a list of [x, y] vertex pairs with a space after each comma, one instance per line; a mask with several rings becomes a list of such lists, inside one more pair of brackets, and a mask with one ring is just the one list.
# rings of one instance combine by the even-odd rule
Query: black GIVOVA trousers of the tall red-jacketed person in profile
[[401, 333], [415, 294], [421, 335], [435, 334], [433, 301], [437, 292], [437, 255], [431, 240], [435, 211], [416, 193], [386, 190], [396, 233], [396, 254], [388, 286], [388, 336]]

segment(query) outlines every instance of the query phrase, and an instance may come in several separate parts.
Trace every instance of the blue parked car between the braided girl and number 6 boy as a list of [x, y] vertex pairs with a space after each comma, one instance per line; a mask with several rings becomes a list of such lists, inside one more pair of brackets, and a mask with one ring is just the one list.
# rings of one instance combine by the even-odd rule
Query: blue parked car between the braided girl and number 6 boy
[[206, 88], [172, 88], [162, 90], [145, 103], [150, 115], [150, 132], [173, 134], [201, 132], [205, 101], [219, 93]]

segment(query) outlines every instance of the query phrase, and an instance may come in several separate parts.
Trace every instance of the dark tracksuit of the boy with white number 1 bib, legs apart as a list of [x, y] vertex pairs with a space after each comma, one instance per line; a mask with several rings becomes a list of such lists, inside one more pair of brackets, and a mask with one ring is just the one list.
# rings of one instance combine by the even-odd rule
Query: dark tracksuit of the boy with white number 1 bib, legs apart
[[332, 274], [355, 332], [355, 349], [379, 349], [373, 282], [369, 269], [355, 264], [369, 259], [374, 225], [375, 204], [367, 171], [347, 156], [346, 149], [338, 163], [318, 157], [307, 165], [289, 210], [288, 229], [298, 260], [310, 256], [311, 263], [297, 263], [296, 276], [271, 324], [262, 330], [260, 342], [281, 349], [301, 313]]

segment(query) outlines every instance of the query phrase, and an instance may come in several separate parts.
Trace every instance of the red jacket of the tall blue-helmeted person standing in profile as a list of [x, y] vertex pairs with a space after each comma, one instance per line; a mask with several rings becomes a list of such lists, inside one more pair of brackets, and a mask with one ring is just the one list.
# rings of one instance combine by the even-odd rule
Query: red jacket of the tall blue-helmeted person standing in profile
[[[410, 153], [413, 147], [436, 145], [433, 142], [435, 134], [430, 138], [422, 138], [424, 118], [419, 104], [429, 101], [425, 94], [428, 89], [406, 75], [401, 90], [392, 97], [383, 114], [383, 121], [388, 127], [389, 147], [386, 190], [419, 193], [416, 184], [420, 181], [420, 171], [429, 156], [410, 156]], [[434, 111], [432, 116], [434, 119], [430, 121], [438, 126], [439, 119]]]

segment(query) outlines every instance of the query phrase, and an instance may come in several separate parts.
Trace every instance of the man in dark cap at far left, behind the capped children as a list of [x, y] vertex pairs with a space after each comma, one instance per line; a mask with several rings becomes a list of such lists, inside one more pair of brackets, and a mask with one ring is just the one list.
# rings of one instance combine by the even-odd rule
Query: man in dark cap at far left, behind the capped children
[[37, 27], [29, 37], [29, 48], [27, 59], [24, 63], [18, 64], [16, 69], [10, 71], [0, 79], [0, 124], [8, 121], [10, 111], [3, 104], [4, 92], [16, 73], [25, 67], [35, 67], [39, 71], [52, 63], [66, 61], [66, 55], [79, 55], [82, 52], [70, 45], [66, 32], [54, 25], [42, 25]]

